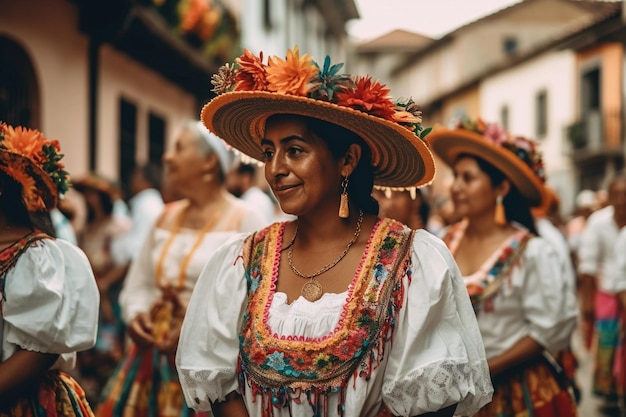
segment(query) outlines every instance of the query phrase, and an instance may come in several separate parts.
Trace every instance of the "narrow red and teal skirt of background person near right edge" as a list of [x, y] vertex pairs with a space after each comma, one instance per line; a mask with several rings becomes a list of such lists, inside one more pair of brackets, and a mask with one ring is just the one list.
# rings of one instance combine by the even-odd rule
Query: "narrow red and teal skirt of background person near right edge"
[[593, 393], [607, 400], [617, 400], [615, 360], [619, 347], [619, 304], [613, 294], [596, 292], [596, 355], [593, 370]]

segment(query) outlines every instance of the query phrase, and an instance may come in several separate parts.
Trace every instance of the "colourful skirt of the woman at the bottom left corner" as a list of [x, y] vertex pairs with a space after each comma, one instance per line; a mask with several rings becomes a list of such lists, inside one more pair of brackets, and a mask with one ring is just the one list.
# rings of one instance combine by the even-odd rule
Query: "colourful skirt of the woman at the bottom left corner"
[[69, 375], [48, 373], [13, 398], [0, 399], [0, 417], [93, 417], [85, 393]]

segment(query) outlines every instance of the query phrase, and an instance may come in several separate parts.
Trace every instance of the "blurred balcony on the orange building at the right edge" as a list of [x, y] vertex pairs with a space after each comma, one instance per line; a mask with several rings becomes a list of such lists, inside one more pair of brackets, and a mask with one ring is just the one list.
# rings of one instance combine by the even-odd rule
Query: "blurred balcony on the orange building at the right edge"
[[566, 127], [566, 137], [575, 161], [622, 155], [622, 118], [619, 111], [588, 111]]

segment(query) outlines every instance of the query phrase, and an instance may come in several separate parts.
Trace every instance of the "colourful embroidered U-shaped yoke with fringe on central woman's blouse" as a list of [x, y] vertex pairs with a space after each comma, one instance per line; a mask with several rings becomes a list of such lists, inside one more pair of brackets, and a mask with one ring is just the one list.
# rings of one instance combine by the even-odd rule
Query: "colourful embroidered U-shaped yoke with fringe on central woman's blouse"
[[413, 234], [396, 221], [380, 220], [348, 289], [337, 328], [322, 338], [298, 338], [272, 334], [267, 324], [284, 229], [285, 223], [274, 224], [246, 242], [248, 308], [240, 333], [241, 390], [247, 385], [261, 396], [264, 417], [272, 416], [274, 407], [299, 401], [302, 393], [314, 415], [324, 416], [327, 395], [339, 392], [338, 412], [343, 415], [348, 379], [369, 378], [392, 336]]

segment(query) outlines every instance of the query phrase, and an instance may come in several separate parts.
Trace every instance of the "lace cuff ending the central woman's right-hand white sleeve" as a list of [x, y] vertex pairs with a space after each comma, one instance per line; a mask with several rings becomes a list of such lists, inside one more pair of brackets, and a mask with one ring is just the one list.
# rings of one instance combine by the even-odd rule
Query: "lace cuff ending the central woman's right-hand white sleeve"
[[491, 401], [493, 386], [486, 360], [444, 360], [383, 383], [385, 404], [394, 415], [418, 415], [458, 404], [455, 415], [469, 416]]

